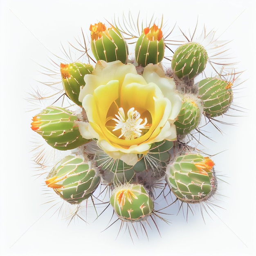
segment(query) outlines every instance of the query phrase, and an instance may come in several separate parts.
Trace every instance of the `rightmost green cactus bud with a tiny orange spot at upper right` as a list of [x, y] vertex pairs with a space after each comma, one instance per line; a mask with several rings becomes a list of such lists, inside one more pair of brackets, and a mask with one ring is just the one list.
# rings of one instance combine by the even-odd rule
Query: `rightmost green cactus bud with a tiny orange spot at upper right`
[[232, 83], [220, 79], [206, 78], [198, 83], [199, 97], [208, 117], [218, 117], [229, 109], [233, 100]]

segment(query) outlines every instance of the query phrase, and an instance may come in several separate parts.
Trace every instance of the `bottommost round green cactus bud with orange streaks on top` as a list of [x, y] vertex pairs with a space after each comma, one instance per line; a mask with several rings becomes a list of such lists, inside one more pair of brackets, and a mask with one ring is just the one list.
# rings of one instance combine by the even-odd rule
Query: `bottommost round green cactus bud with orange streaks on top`
[[124, 221], [146, 219], [153, 212], [153, 201], [140, 184], [121, 184], [112, 191], [110, 204]]

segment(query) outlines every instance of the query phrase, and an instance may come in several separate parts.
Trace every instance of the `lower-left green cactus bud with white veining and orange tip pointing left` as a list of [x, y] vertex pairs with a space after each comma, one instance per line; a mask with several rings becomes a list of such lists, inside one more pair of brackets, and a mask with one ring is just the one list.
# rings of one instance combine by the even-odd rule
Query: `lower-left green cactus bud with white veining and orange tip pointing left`
[[52, 168], [45, 183], [65, 201], [79, 204], [100, 184], [96, 167], [80, 156], [66, 156]]

